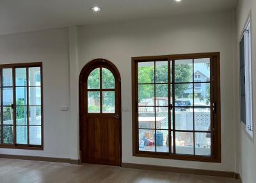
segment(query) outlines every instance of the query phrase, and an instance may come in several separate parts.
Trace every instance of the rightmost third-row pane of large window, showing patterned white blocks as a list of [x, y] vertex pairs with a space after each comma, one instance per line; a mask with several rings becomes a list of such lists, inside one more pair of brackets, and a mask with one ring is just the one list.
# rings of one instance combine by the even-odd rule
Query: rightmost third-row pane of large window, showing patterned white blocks
[[195, 108], [195, 130], [211, 131], [210, 108]]

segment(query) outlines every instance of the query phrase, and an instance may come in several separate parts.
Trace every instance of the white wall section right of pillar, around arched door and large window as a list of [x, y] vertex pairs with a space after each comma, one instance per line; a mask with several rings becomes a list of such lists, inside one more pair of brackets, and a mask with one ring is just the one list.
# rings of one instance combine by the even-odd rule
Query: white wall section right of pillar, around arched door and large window
[[132, 157], [132, 113], [122, 113], [124, 163], [234, 171], [234, 12], [208, 13], [132, 23], [79, 26], [79, 71], [88, 61], [106, 58], [122, 77], [122, 105], [131, 108], [131, 57], [221, 52], [222, 163]]

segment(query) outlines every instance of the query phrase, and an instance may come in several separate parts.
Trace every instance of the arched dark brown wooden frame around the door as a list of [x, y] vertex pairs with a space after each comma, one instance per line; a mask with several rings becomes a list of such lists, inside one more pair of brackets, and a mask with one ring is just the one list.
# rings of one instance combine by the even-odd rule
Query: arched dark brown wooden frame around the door
[[[116, 104], [119, 104], [118, 107], [118, 114], [119, 114], [119, 122], [120, 122], [120, 126], [119, 126], [119, 154], [120, 154], [120, 159], [119, 159], [119, 166], [122, 166], [122, 100], [121, 100], [121, 77], [120, 77], [120, 73], [118, 71], [118, 68], [116, 68], [116, 66], [109, 60], [103, 59], [103, 58], [97, 58], [94, 59], [88, 63], [86, 63], [86, 65], [84, 65], [84, 67], [82, 68], [80, 75], [79, 75], [79, 155], [80, 155], [80, 160], [81, 163], [83, 163], [83, 157], [82, 157], [82, 146], [83, 146], [83, 122], [86, 119], [86, 113], [84, 113], [84, 111], [87, 109], [87, 106], [85, 106], [84, 104], [86, 104], [86, 100], [85, 99], [85, 95], [83, 95], [84, 91], [84, 86], [83, 84], [86, 82], [87, 83], [87, 79], [88, 76], [90, 74], [90, 72], [92, 72], [93, 69], [97, 68], [97, 67], [106, 67], [109, 70], [111, 70], [111, 72], [113, 72], [113, 76], [115, 77], [115, 87], [116, 90], [118, 91], [117, 96], [116, 96]], [[101, 76], [100, 76], [101, 77]], [[87, 95], [86, 95], [87, 96]]]

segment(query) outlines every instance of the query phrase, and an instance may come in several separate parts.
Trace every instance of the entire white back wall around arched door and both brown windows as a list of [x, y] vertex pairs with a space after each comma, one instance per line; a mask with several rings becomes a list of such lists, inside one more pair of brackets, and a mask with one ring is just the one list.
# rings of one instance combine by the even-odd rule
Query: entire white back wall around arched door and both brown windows
[[[227, 11], [101, 26], [78, 26], [78, 35], [76, 28], [70, 28], [69, 35], [68, 29], [1, 35], [0, 63], [43, 62], [45, 150], [0, 148], [0, 154], [79, 158], [76, 91], [78, 74], [88, 61], [106, 58], [116, 65], [122, 77], [122, 105], [131, 109], [132, 56], [220, 51], [222, 163], [132, 157], [131, 111], [122, 113], [122, 157], [124, 163], [234, 171], [234, 17], [234, 12]], [[63, 105], [71, 106], [71, 110], [60, 111]]]

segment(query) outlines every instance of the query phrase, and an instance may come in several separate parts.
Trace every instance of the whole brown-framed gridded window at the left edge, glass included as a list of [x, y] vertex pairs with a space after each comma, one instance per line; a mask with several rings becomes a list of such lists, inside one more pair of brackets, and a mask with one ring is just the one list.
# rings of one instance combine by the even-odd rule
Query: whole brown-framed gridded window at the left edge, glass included
[[0, 147], [42, 149], [42, 63], [0, 65]]

